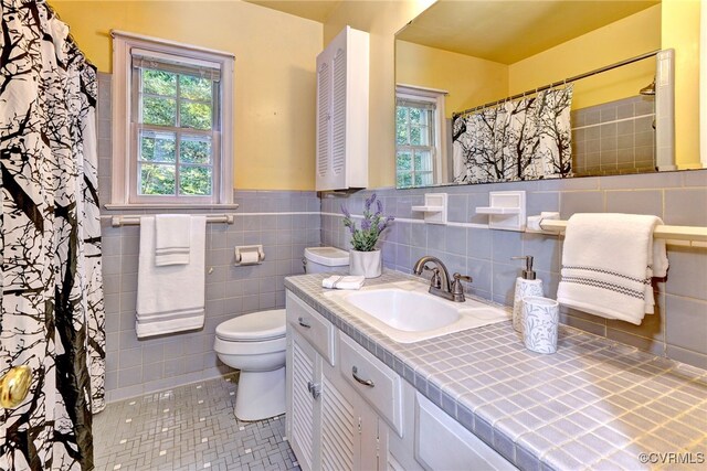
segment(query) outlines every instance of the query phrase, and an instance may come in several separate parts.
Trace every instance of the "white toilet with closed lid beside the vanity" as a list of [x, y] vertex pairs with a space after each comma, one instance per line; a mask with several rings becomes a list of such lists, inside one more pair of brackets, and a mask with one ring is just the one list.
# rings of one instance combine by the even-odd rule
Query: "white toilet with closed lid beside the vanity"
[[[305, 248], [305, 272], [347, 270], [349, 254], [334, 247]], [[262, 420], [285, 414], [285, 310], [253, 312], [221, 322], [213, 349], [241, 371], [235, 417]]]

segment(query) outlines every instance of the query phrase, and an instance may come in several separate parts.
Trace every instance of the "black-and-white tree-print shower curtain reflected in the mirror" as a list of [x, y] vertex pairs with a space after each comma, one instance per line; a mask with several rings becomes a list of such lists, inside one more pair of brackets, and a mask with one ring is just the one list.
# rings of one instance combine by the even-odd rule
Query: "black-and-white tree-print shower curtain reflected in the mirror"
[[453, 124], [455, 183], [571, 174], [572, 86], [460, 116]]

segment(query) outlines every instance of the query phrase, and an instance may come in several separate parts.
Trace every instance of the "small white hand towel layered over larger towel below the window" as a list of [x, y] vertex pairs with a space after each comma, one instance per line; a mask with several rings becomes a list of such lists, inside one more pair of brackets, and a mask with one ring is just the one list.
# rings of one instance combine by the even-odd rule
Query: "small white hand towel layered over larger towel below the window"
[[189, 264], [191, 216], [189, 214], [158, 214], [155, 216], [155, 265]]

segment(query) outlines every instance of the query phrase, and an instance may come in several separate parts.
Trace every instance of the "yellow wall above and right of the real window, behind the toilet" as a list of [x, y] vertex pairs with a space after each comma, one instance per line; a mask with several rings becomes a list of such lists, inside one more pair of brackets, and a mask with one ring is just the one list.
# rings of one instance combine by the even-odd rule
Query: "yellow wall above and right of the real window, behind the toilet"
[[235, 0], [50, 3], [102, 72], [112, 29], [234, 53], [235, 188], [314, 189], [321, 23]]

